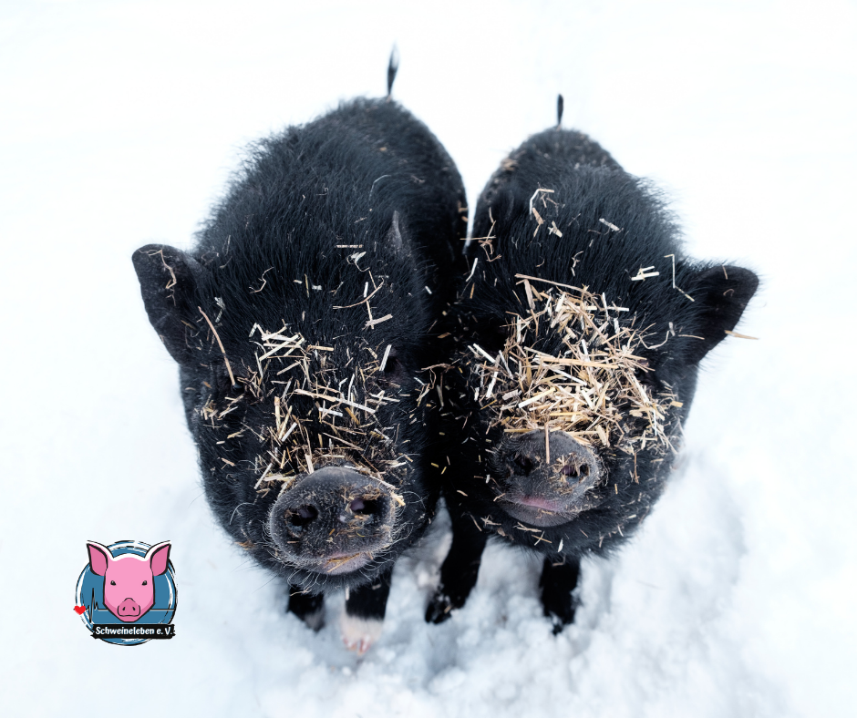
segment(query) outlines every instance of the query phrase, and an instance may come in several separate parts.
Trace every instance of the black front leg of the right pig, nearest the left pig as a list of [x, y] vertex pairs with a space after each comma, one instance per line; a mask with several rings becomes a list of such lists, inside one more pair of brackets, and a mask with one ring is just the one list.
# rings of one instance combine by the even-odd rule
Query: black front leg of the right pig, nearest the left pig
[[482, 551], [488, 535], [481, 531], [470, 514], [449, 512], [452, 518], [452, 546], [440, 567], [440, 583], [429, 600], [426, 621], [442, 623], [453, 609], [461, 608], [476, 585]]

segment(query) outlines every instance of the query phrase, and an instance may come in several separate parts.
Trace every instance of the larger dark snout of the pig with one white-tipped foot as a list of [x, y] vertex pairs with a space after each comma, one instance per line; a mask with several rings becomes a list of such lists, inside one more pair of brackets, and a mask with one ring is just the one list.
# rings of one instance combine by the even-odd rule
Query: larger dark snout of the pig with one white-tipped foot
[[393, 514], [383, 485], [350, 468], [324, 467], [277, 500], [268, 528], [287, 563], [336, 575], [387, 548]]

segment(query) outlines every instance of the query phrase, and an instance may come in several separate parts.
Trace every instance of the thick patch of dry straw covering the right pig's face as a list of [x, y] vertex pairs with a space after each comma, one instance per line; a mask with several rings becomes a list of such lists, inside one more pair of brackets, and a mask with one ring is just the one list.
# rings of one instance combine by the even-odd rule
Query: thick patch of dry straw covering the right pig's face
[[[515, 276], [524, 284], [530, 313], [514, 315], [498, 356], [478, 344], [471, 344], [467, 354], [471, 395], [483, 409], [495, 408], [490, 426], [502, 426], [510, 434], [543, 430], [546, 453], [550, 431], [556, 430], [582, 444], [614, 446], [627, 453], [646, 446], [656, 451], [671, 448], [667, 412], [681, 403], [668, 387], [650, 395], [638, 381], [638, 374], [649, 371], [645, 359], [635, 353], [644, 346], [645, 333], [610, 316], [627, 308], [608, 304], [603, 293]], [[550, 286], [537, 292], [531, 282]], [[562, 355], [533, 347], [548, 332], [563, 337]], [[644, 420], [642, 429], [639, 419]]]

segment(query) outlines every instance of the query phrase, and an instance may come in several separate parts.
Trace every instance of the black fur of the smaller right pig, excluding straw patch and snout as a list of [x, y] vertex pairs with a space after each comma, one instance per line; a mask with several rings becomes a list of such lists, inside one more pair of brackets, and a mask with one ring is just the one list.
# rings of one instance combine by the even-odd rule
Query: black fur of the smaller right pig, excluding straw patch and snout
[[[561, 112], [562, 102], [558, 120]], [[538, 188], [553, 190], [541, 193], [534, 204], [544, 221], [541, 226], [529, 205]], [[554, 222], [562, 237], [549, 231]], [[652, 371], [641, 381], [651, 391], [669, 387], [683, 403], [670, 407], [669, 428], [677, 444], [696, 388], [698, 362], [738, 323], [758, 280], [746, 269], [689, 260], [663, 196], [645, 180], [627, 174], [592, 139], [561, 128], [534, 135], [503, 161], [480, 196], [473, 237], [468, 246], [471, 270], [473, 262], [479, 262], [470, 281], [462, 281], [459, 302], [441, 328], [449, 333], [445, 352], [451, 369], [444, 379], [446, 442], [436, 463], [449, 462], [439, 480], [453, 539], [426, 619], [444, 621], [451, 609], [464, 604], [475, 585], [486, 538], [500, 535], [544, 554], [542, 603], [545, 614], [562, 629], [573, 621], [571, 591], [581, 557], [606, 554], [633, 534], [660, 496], [674, 455], [641, 451], [635, 458], [614, 448], [600, 450], [601, 480], [590, 494], [594, 506], [564, 523], [533, 531], [495, 501], [504, 490], [497, 480], [503, 467], [492, 452], [501, 446], [503, 430], [489, 429], [490, 405], [480, 408], [468, 388], [472, 354], [467, 346], [480, 344], [496, 354], [510, 316], [528, 312], [516, 273], [585, 287], [596, 296], [604, 292], [607, 303], [630, 310], [611, 317], [645, 330], [651, 348], [641, 346], [637, 353], [645, 356]], [[677, 289], [669, 255], [675, 257]], [[653, 265], [658, 276], [632, 281], [640, 268]], [[532, 285], [540, 290], [549, 286]], [[562, 354], [556, 334], [540, 336], [539, 351]]]

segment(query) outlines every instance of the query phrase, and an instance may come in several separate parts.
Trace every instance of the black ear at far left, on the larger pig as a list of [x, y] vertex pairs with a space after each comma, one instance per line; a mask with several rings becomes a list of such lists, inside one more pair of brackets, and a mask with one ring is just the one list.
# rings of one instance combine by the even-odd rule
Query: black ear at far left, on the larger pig
[[191, 364], [193, 355], [185, 338], [194, 315], [199, 263], [189, 254], [165, 244], [147, 244], [131, 257], [149, 321], [167, 351], [179, 364]]

